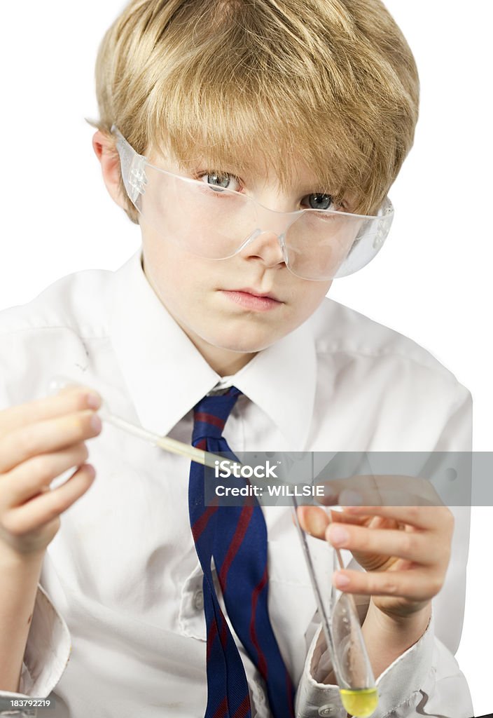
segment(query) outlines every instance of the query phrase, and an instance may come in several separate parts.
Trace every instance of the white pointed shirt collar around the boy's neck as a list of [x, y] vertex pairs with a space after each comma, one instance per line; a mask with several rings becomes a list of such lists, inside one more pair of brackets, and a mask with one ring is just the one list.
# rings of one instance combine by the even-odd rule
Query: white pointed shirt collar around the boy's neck
[[[148, 283], [141, 248], [113, 275], [110, 337], [142, 426], [164, 436], [220, 381]], [[231, 383], [305, 447], [315, 401], [310, 322], [263, 350]], [[276, 450], [278, 447], [274, 447]]]

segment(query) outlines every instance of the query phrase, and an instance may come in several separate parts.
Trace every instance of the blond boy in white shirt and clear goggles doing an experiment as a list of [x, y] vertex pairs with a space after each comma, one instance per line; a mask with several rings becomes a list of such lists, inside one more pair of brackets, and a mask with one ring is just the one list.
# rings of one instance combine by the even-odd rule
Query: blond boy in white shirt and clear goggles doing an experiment
[[[416, 124], [416, 68], [374, 0], [134, 1], [103, 41], [97, 94], [95, 151], [143, 246], [114, 276], [64, 278], [1, 317], [1, 402], [10, 408], [0, 416], [9, 587], [0, 688], [53, 691], [57, 717], [283, 715], [269, 688], [273, 663], [263, 670], [237, 637], [248, 694], [236, 712], [223, 706], [234, 701], [227, 690], [214, 694], [219, 664], [206, 656], [216, 644], [204, 603], [216, 609], [223, 586], [219, 599], [206, 593], [189, 462], [111, 426], [99, 437], [100, 400], [90, 403], [87, 390], [26, 402], [46, 393], [50, 376], [68, 374], [115, 414], [190, 443], [193, 409], [234, 386], [241, 394], [224, 439], [235, 451], [469, 448], [469, 395], [454, 377], [412, 342], [324, 299], [333, 276], [363, 266], [387, 229], [386, 194]], [[67, 484], [49, 491], [70, 467]], [[375, 715], [472, 715], [451, 656], [468, 532], [467, 514], [454, 513], [447, 574], [453, 520], [444, 507], [431, 520], [423, 508], [394, 510], [412, 544], [360, 521], [339, 543], [343, 526], [327, 534], [368, 569], [335, 580], [367, 597]], [[297, 689], [297, 714], [345, 715], [332, 676], [318, 670], [323, 642], [289, 512], [264, 516], [275, 660]], [[318, 513], [303, 518], [325, 537]], [[383, 570], [389, 555], [406, 570]]]

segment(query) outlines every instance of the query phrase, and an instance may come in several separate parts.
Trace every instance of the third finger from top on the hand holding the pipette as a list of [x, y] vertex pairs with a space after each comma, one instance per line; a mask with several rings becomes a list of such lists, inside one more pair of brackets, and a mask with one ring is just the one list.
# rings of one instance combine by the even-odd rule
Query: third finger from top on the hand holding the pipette
[[6, 508], [14, 508], [39, 494], [65, 471], [85, 463], [89, 451], [84, 443], [54, 454], [39, 454], [24, 461], [2, 479], [2, 493], [9, 495]]

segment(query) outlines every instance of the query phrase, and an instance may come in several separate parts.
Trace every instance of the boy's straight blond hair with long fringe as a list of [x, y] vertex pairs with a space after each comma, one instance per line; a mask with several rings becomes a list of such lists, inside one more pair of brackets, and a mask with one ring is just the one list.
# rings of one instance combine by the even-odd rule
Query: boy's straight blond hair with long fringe
[[282, 187], [302, 159], [359, 213], [383, 202], [418, 118], [413, 55], [380, 0], [132, 0], [96, 89], [95, 126], [139, 154], [219, 170], [261, 157]]

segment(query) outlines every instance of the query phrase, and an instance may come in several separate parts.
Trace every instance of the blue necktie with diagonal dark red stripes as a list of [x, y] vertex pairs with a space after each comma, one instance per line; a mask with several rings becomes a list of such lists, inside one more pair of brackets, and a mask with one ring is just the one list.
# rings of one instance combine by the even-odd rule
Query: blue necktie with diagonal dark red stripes
[[[193, 446], [231, 452], [224, 424], [241, 391], [205, 396], [194, 407]], [[243, 480], [244, 481], [244, 480]], [[243, 506], [206, 506], [204, 467], [192, 462], [188, 484], [190, 522], [204, 571], [207, 626], [207, 707], [204, 718], [251, 718], [248, 684], [214, 589], [211, 558], [236, 635], [267, 686], [274, 718], [294, 716], [294, 689], [267, 610], [267, 527], [257, 500]]]

